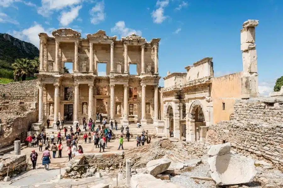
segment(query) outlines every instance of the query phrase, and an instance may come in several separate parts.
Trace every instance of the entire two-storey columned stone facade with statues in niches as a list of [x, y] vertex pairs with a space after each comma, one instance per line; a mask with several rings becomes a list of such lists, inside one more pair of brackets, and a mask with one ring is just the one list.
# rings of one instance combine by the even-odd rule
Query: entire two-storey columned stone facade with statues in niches
[[[124, 124], [158, 118], [159, 38], [146, 42], [132, 34], [117, 40], [103, 30], [81, 38], [72, 29], [52, 35], [39, 34], [39, 122], [73, 113], [74, 123], [81, 124], [83, 117], [93, 119], [97, 112]], [[65, 73], [66, 63], [73, 64], [73, 72]], [[105, 70], [98, 70], [101, 64]], [[130, 74], [130, 65], [136, 65], [136, 75]], [[106, 76], [98, 76], [101, 71]]]

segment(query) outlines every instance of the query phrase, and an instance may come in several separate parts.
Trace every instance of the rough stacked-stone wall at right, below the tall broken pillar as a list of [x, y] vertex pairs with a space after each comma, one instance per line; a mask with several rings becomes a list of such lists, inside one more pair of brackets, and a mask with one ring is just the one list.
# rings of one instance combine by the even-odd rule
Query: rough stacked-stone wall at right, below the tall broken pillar
[[233, 149], [272, 162], [283, 170], [283, 97], [237, 99], [230, 121], [220, 121], [207, 133], [213, 144], [230, 142]]

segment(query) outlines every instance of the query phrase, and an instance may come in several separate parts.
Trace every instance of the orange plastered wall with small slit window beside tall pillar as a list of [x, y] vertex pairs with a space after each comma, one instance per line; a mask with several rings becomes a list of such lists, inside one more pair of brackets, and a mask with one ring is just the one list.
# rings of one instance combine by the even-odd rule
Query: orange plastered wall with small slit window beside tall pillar
[[234, 112], [235, 100], [241, 97], [241, 76], [242, 72], [239, 72], [211, 78], [214, 124], [220, 120], [229, 120]]

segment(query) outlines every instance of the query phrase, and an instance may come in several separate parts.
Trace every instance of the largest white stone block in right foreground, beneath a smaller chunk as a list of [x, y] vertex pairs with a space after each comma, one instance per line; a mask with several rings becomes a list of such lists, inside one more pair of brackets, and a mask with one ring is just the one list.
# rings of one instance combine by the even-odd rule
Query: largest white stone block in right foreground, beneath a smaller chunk
[[253, 180], [257, 171], [251, 158], [234, 154], [214, 155], [208, 158], [210, 176], [216, 185], [236, 185]]

